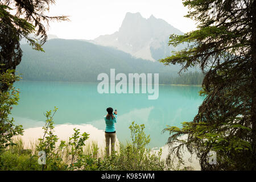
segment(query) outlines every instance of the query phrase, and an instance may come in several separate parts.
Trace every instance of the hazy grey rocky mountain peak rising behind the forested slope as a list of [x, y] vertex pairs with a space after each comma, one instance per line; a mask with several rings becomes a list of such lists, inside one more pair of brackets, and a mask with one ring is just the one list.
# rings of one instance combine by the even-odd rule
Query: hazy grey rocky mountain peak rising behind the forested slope
[[100, 36], [94, 41], [102, 46], [110, 46], [130, 53], [134, 57], [155, 61], [170, 56], [176, 50], [168, 47], [170, 34], [182, 34], [160, 18], [151, 15], [143, 18], [140, 13], [126, 13], [117, 32]]

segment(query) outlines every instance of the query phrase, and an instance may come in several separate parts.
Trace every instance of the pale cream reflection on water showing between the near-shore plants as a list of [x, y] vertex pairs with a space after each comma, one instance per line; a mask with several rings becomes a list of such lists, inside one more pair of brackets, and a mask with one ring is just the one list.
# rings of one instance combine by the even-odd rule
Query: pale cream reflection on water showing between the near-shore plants
[[[104, 130], [99, 130], [96, 127], [92, 125], [56, 125], [54, 128], [53, 133], [57, 135], [59, 138], [57, 145], [60, 144], [61, 140], [68, 141], [69, 137], [72, 137], [72, 134], [74, 133], [73, 129], [80, 129], [80, 134], [86, 132], [89, 134], [89, 139], [86, 140], [85, 144], [88, 143], [97, 143], [97, 146], [99, 148], [99, 154], [105, 153], [105, 132]], [[23, 141], [24, 148], [30, 149], [34, 146], [34, 144], [38, 141], [38, 138], [41, 138], [43, 135], [43, 129], [42, 127], [34, 127], [25, 129], [23, 135], [16, 136], [15, 138], [20, 138]], [[186, 138], [186, 136], [182, 137], [183, 139]], [[115, 142], [115, 148], [116, 151], [118, 151], [119, 148], [119, 140], [118, 136]], [[168, 155], [168, 146], [164, 145], [162, 147], [157, 148], [151, 148], [151, 152], [158, 154], [158, 151], [160, 151], [160, 148], [162, 149], [162, 155], [161, 159], [165, 160]], [[201, 167], [199, 164], [199, 160], [196, 159], [195, 155], [192, 155], [191, 162], [189, 161], [189, 158], [191, 158], [191, 154], [189, 154], [188, 151], [183, 152], [183, 160], [184, 165], [180, 166], [180, 169], [184, 167], [192, 167], [196, 171], [200, 171]], [[177, 165], [177, 161], [174, 161], [174, 164]]]

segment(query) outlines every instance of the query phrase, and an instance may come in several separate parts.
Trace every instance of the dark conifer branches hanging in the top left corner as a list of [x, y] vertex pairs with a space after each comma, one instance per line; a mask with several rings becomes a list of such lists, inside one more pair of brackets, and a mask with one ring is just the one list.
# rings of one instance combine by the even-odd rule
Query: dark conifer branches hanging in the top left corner
[[[25, 39], [33, 49], [43, 51], [47, 40], [46, 27], [50, 20], [68, 20], [67, 16], [49, 16], [49, 1], [4, 0], [0, 3], [0, 69], [15, 69], [22, 59], [20, 40]], [[13, 7], [13, 8], [11, 8]], [[31, 34], [35, 34], [34, 36]], [[36, 36], [38, 38], [36, 38]], [[2, 87], [0, 89], [3, 89]]]

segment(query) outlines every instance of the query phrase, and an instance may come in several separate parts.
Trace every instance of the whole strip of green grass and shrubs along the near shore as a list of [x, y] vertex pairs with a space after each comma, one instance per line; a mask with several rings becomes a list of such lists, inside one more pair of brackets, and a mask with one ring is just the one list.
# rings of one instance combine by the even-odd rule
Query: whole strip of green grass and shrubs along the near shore
[[[51, 120], [47, 120], [51, 122]], [[119, 143], [114, 154], [105, 156], [105, 148], [98, 147], [97, 142], [87, 140], [88, 134], [75, 133], [68, 141], [59, 141], [57, 136], [46, 130], [44, 140], [37, 139], [25, 147], [21, 138], [14, 137], [14, 146], [6, 148], [0, 154], [0, 170], [47, 170], [47, 171], [74, 171], [74, 170], [104, 170], [104, 171], [158, 171], [179, 170], [180, 166], [161, 159], [162, 150], [154, 152], [146, 148], [150, 142], [149, 135], [144, 134], [144, 125], [134, 122], [129, 127], [131, 130], [131, 143]], [[45, 151], [46, 164], [38, 163], [38, 152]]]

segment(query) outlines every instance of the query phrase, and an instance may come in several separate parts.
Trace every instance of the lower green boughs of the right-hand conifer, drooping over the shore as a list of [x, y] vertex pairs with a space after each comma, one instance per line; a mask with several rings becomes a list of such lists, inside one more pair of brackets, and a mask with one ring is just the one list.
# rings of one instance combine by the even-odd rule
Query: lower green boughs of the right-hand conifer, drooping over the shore
[[[209, 123], [205, 122], [183, 122], [183, 127], [180, 129], [175, 126], [168, 126], [167, 129], [164, 129], [164, 131], [168, 131], [171, 135], [171, 137], [168, 139], [168, 142], [172, 143], [173, 141], [181, 143], [178, 146], [172, 147], [171, 152], [168, 155], [168, 160], [172, 160], [171, 154], [175, 153], [177, 154], [177, 157], [179, 158], [180, 162], [183, 163], [183, 158], [181, 152], [184, 148], [188, 147], [188, 150], [190, 152], [195, 152], [198, 150], [205, 150], [205, 147], [209, 147], [208, 150], [216, 151], [217, 154], [220, 154], [220, 152], [232, 152], [236, 151], [236, 154], [242, 154], [244, 150], [251, 150], [250, 143], [247, 141], [242, 140], [241, 138], [238, 138], [236, 136], [229, 136], [227, 135], [227, 131], [230, 131], [232, 129], [240, 128], [245, 129], [243, 126], [240, 125], [233, 125], [230, 126], [228, 123], [223, 123], [223, 131], [216, 132], [216, 127], [209, 125]], [[250, 131], [249, 128], [246, 128]], [[182, 135], [189, 135], [193, 133], [193, 137], [195, 137], [199, 141], [203, 141], [200, 143], [201, 145], [195, 145], [194, 141], [190, 141], [189, 139], [181, 139], [180, 137]], [[227, 160], [226, 155], [217, 155], [217, 161], [218, 163], [225, 162]], [[233, 163], [231, 160], [229, 161], [230, 168], [233, 168]], [[245, 167], [245, 166], [243, 166]]]

